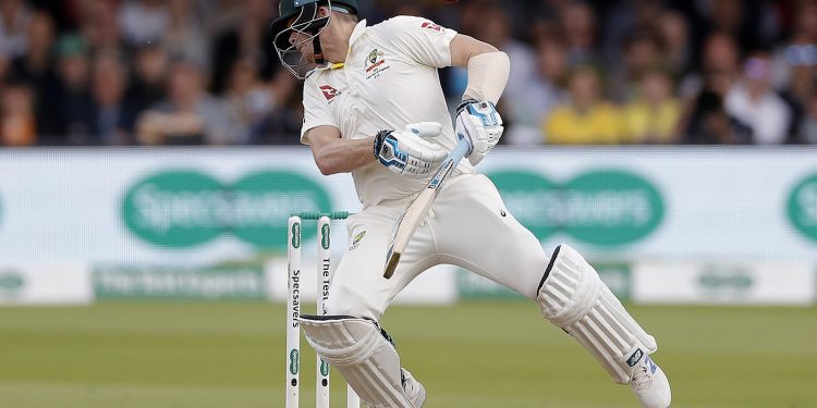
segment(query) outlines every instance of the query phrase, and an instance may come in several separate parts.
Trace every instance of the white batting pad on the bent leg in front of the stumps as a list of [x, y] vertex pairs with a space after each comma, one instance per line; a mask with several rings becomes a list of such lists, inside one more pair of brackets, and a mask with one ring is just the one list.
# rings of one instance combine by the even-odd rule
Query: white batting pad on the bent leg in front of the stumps
[[301, 316], [306, 341], [371, 408], [414, 408], [403, 390], [400, 356], [370, 320]]

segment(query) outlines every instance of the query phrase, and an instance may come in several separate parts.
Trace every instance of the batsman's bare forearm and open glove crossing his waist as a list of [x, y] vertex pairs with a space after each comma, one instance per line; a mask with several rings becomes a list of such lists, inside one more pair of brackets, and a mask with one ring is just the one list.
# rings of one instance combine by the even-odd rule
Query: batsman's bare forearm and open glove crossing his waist
[[394, 173], [424, 178], [446, 158], [444, 151], [426, 140], [441, 129], [439, 123], [420, 122], [404, 131], [386, 129], [374, 137], [345, 139], [337, 127], [324, 125], [307, 131], [306, 139], [325, 175], [351, 172], [378, 160]]

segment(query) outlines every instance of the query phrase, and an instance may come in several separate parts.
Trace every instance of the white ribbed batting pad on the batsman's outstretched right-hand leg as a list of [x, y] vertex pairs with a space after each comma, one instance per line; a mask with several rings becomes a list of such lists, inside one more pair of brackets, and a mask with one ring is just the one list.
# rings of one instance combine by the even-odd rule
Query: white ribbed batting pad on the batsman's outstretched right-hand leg
[[658, 349], [575, 249], [553, 252], [539, 287], [542, 316], [575, 337], [619, 384], [629, 384], [635, 366]]

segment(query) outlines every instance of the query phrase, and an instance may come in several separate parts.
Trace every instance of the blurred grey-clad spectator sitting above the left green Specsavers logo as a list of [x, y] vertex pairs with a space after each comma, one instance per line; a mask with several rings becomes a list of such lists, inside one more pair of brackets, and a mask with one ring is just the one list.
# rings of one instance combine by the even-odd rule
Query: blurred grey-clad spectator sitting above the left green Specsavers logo
[[175, 61], [168, 78], [168, 97], [144, 112], [136, 132], [143, 145], [228, 145], [240, 140], [241, 128], [223, 101], [204, 87], [202, 70], [186, 60]]

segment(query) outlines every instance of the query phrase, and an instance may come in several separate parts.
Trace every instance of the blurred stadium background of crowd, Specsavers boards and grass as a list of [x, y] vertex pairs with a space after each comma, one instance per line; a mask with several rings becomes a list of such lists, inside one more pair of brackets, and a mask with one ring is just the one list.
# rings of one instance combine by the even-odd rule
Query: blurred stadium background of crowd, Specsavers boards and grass
[[[359, 3], [509, 53], [480, 171], [656, 334], [675, 406], [817, 406], [815, 2]], [[3, 406], [282, 405], [286, 214], [359, 205], [297, 145], [276, 12], [0, 0]], [[454, 104], [464, 72], [440, 76]], [[463, 271], [424, 274], [383, 323], [429, 407], [632, 406], [534, 305]]]

